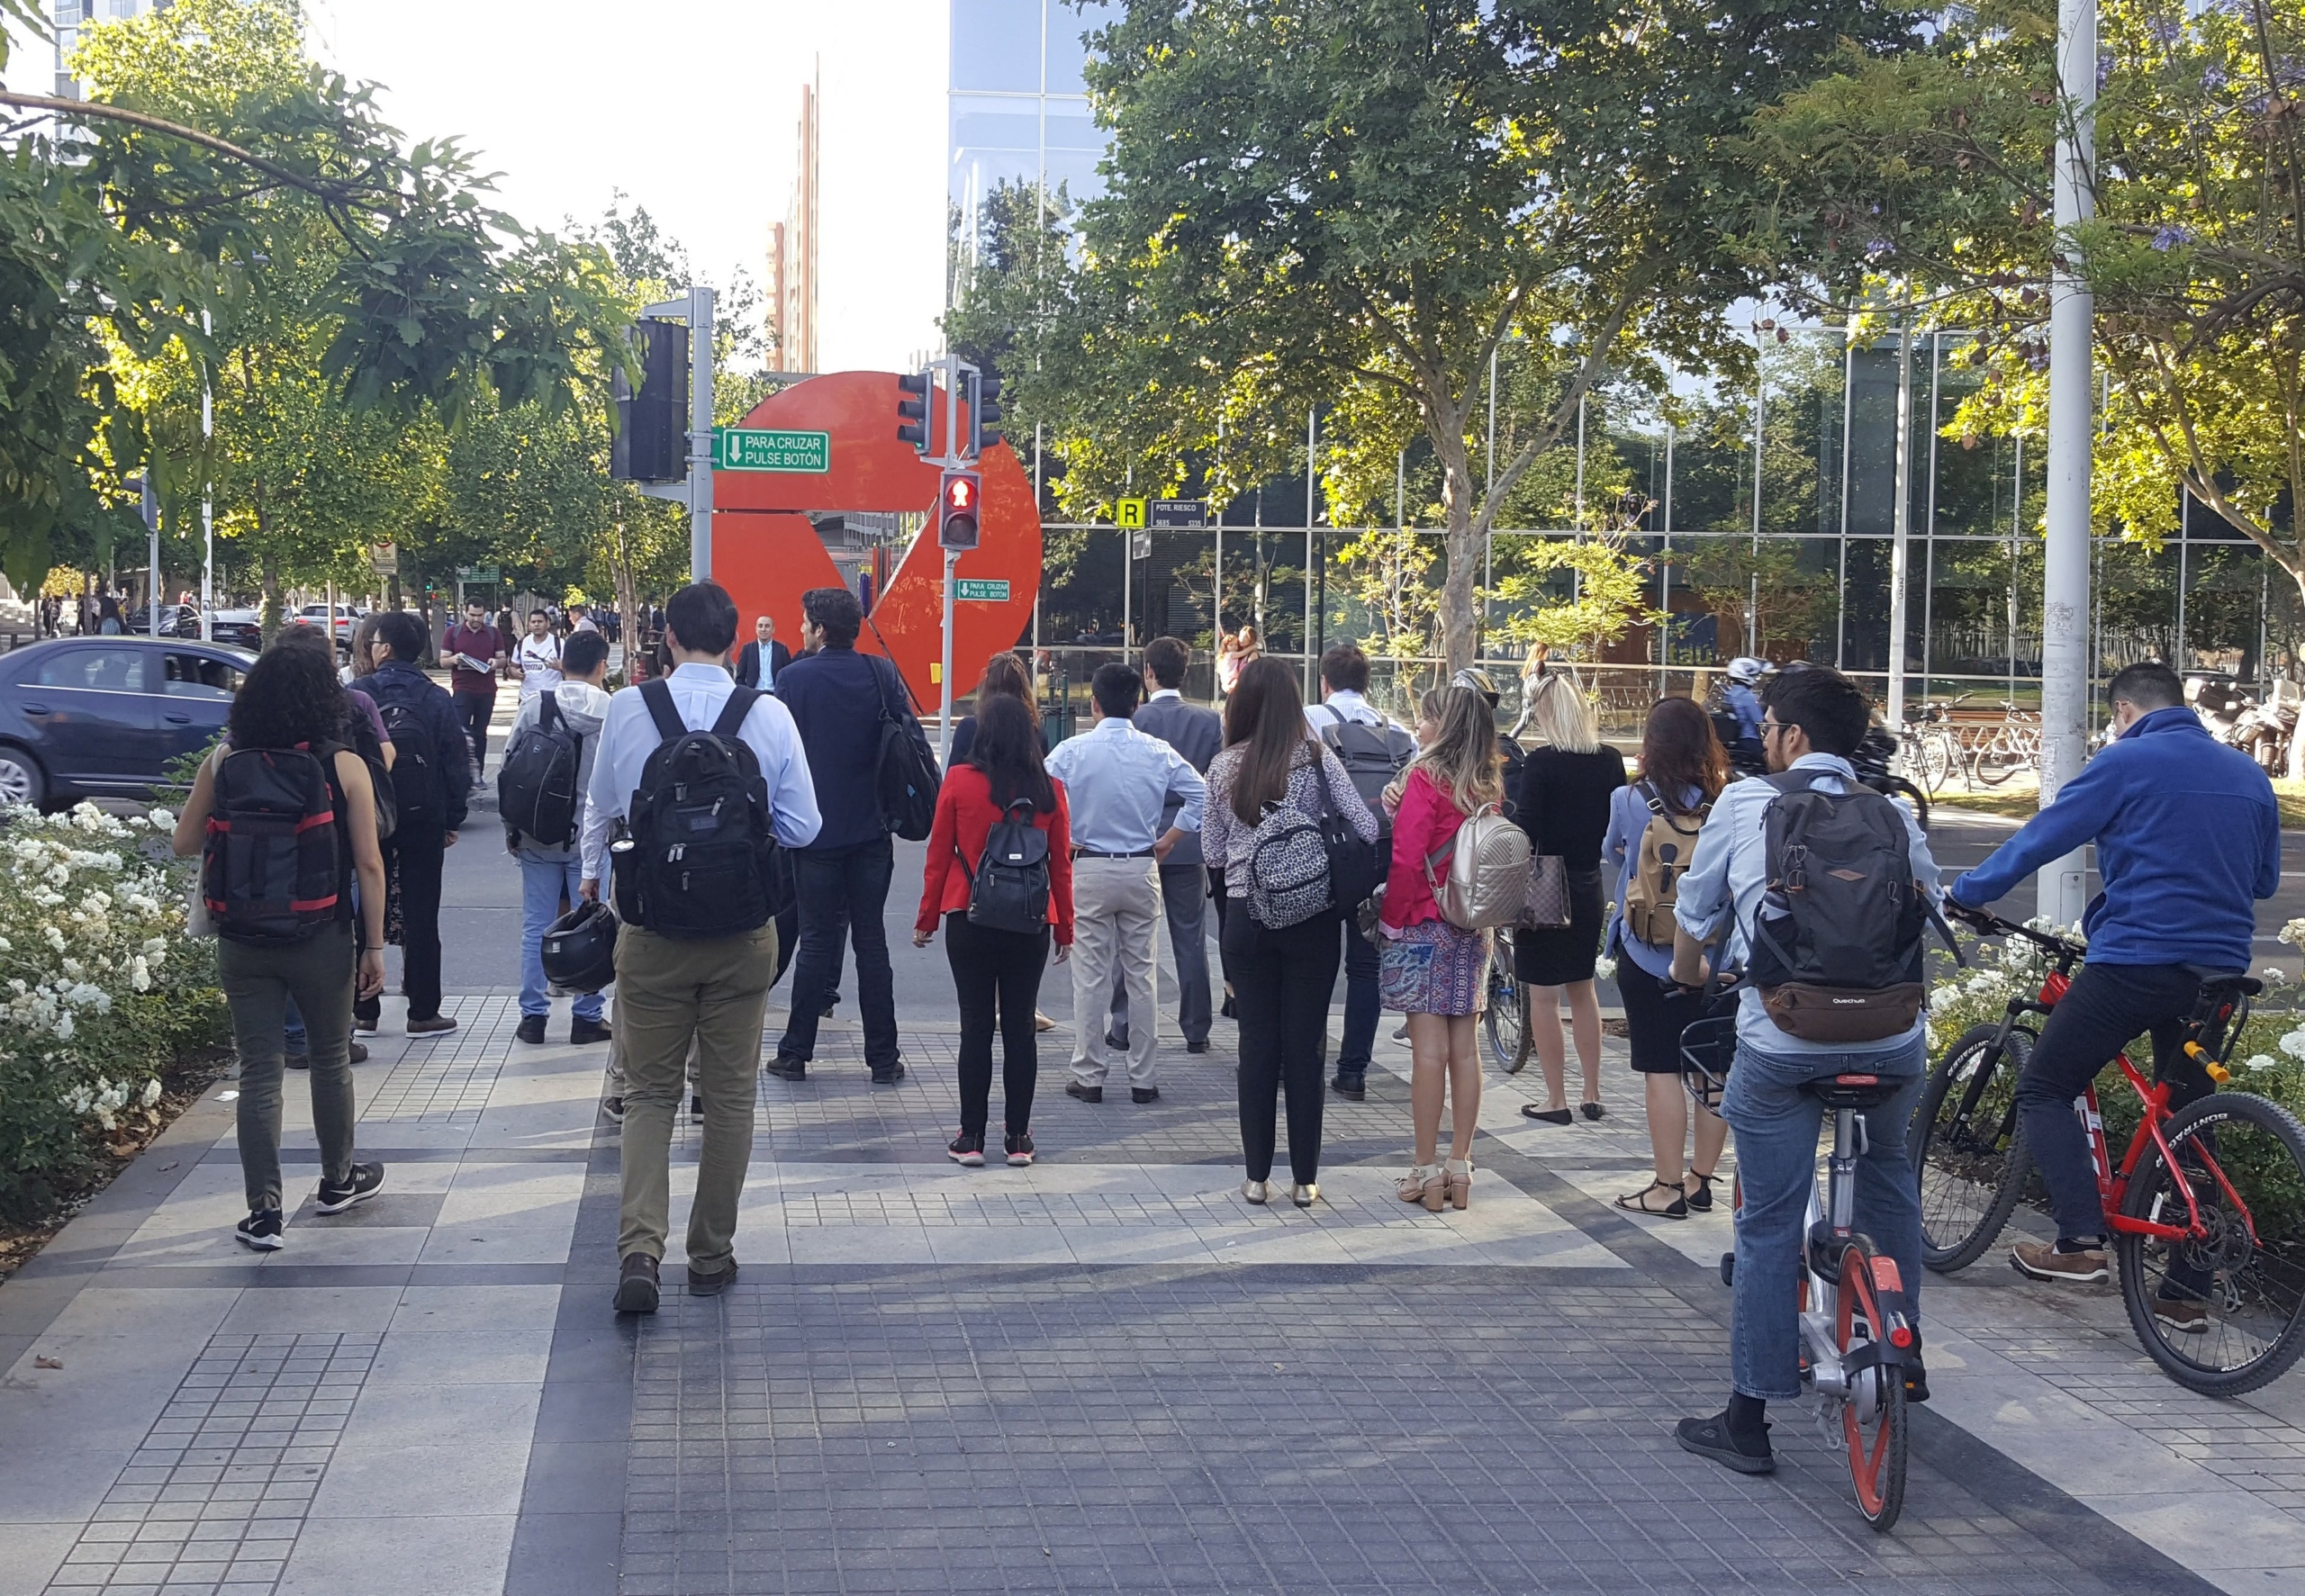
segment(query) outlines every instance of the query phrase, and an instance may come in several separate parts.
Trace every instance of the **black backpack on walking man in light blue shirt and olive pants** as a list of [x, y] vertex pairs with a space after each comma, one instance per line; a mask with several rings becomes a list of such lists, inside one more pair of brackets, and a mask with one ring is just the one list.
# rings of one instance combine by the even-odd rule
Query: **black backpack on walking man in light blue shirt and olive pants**
[[659, 937], [708, 940], [758, 930], [784, 907], [768, 781], [738, 737], [761, 693], [738, 686], [710, 730], [692, 732], [664, 679], [641, 702], [659, 742], [641, 767], [627, 836], [611, 848], [618, 914]]

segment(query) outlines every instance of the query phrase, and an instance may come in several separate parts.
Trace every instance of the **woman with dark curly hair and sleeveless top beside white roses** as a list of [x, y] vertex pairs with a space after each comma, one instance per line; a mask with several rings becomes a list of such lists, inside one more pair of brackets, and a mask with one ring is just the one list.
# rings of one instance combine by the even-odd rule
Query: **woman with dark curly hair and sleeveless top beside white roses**
[[[288, 1000], [311, 1034], [311, 1122], [320, 1138], [320, 1214], [373, 1198], [385, 1165], [353, 1163], [353, 995], [385, 986], [385, 859], [376, 841], [376, 795], [366, 762], [337, 739], [343, 730], [343, 686], [330, 656], [316, 647], [274, 643], [265, 649], [226, 723], [231, 746], [210, 753], [194, 776], [191, 797], [175, 820], [175, 854], [187, 859], [207, 841], [217, 808], [217, 769], [226, 758], [265, 753], [325, 753], [320, 760], [334, 808], [337, 917], [297, 940], [254, 942], [219, 926], [217, 972], [233, 1011], [240, 1052], [240, 1175], [249, 1216], [235, 1234], [258, 1251], [281, 1246], [281, 1069]], [[353, 937], [353, 880], [366, 937]], [[355, 947], [360, 951], [355, 951]]]

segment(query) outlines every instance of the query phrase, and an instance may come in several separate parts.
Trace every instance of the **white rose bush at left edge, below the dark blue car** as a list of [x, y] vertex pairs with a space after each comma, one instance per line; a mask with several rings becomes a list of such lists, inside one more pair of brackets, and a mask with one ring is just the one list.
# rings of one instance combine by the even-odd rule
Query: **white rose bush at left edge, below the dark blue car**
[[173, 827], [0, 811], [0, 1218], [81, 1188], [106, 1140], [157, 1124], [161, 1076], [228, 1039]]

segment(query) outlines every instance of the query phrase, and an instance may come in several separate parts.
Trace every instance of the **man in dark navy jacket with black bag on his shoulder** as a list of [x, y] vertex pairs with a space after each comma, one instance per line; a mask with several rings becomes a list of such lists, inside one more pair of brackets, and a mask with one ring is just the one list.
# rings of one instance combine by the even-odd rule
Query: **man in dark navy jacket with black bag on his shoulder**
[[765, 1064], [781, 1080], [807, 1080], [816, 1055], [816, 1023], [841, 979], [841, 942], [857, 951], [857, 1011], [864, 1023], [864, 1062], [871, 1078], [904, 1078], [897, 1052], [897, 979], [887, 960], [887, 884], [897, 850], [892, 818], [881, 813], [881, 716], [904, 728], [929, 755], [929, 739], [906, 702], [897, 668], [857, 654], [864, 606], [846, 587], [800, 594], [800, 640], [809, 654], [774, 670], [777, 698], [793, 712], [800, 744], [816, 781], [823, 831], [793, 850], [800, 896], [800, 956], [793, 960], [793, 1018]]

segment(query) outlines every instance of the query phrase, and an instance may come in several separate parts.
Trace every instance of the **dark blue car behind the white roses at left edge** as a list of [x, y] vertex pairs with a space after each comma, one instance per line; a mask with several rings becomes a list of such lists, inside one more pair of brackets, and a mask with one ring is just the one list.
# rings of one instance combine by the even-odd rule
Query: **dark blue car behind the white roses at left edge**
[[171, 760], [224, 730], [251, 663], [247, 649], [134, 636], [0, 654], [0, 804], [148, 797]]

